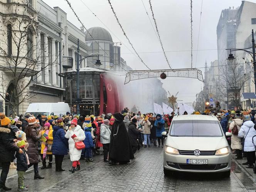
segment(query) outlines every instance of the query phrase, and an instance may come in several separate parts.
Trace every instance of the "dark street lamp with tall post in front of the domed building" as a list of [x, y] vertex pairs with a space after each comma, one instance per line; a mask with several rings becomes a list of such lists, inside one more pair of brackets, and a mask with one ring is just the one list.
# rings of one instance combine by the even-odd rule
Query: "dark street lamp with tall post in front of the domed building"
[[[102, 55], [99, 55], [99, 54], [96, 54], [96, 55], [88, 55], [88, 56], [84, 56], [82, 59], [80, 59], [80, 55], [79, 55], [79, 52], [80, 52], [80, 49], [79, 49], [79, 39], [77, 39], [77, 54], [76, 54], [76, 101], [77, 101], [77, 105], [76, 105], [76, 114], [80, 114], [80, 108], [79, 108], [79, 103], [81, 103], [81, 98], [79, 98], [79, 66], [81, 64], [81, 62], [88, 58], [88, 57], [98, 57], [99, 56], [102, 56]], [[80, 59], [80, 60], [79, 60]], [[101, 62], [100, 60], [98, 59], [95, 63], [96, 65], [101, 65]]]

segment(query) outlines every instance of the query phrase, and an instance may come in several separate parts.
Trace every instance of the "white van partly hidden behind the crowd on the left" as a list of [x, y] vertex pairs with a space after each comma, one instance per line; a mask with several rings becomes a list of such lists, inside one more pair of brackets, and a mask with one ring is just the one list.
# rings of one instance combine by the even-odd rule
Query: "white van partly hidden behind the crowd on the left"
[[58, 103], [30, 103], [29, 107], [27, 108], [27, 113], [30, 113], [31, 115], [34, 115], [35, 117], [37, 115], [66, 115], [66, 112], [70, 112], [69, 105], [64, 102], [58, 102]]

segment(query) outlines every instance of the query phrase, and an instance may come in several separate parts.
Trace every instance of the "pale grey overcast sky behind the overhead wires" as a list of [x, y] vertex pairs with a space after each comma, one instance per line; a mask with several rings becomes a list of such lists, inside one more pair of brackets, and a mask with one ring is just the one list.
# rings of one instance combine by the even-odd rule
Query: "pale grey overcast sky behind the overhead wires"
[[[108, 4], [108, 0], [69, 0], [72, 7], [79, 15], [85, 27], [106, 27], [93, 15], [111, 30], [109, 31], [114, 42], [121, 42], [121, 57], [133, 69], [147, 69], [131, 54], [131, 46], [123, 35], [116, 19]], [[65, 0], [44, 0], [51, 7], [60, 7], [67, 13], [67, 19], [77, 27], [80, 27]], [[92, 11], [83, 4], [86, 4]], [[143, 0], [150, 20], [152, 14], [148, 0]], [[190, 0], [151, 0], [152, 7], [157, 21], [163, 47], [173, 69], [191, 67], [191, 40], [190, 40]], [[256, 3], [256, 0], [251, 0]], [[193, 50], [197, 50], [199, 34], [199, 21], [202, 0], [193, 1]], [[143, 61], [151, 69], [168, 69], [167, 62], [163, 55], [160, 43], [150, 24], [141, 0], [111, 0], [111, 4], [123, 25], [131, 43], [140, 54]], [[221, 10], [229, 7], [239, 7], [241, 0], [203, 0], [202, 17], [198, 49], [215, 49], [208, 51], [193, 51], [193, 67], [204, 67], [205, 60], [210, 65], [211, 61], [217, 59], [217, 35], [216, 27]], [[117, 38], [118, 37], [118, 38]], [[120, 39], [120, 40], [119, 40]], [[126, 46], [129, 48], [127, 49]], [[152, 53], [145, 53], [152, 52]], [[158, 53], [156, 53], [158, 52]], [[196, 62], [197, 55], [197, 62]], [[201, 69], [204, 73], [204, 68]], [[193, 102], [195, 94], [199, 93], [203, 84], [196, 79], [167, 77], [162, 80], [163, 87], [175, 94], [179, 91], [178, 98], [184, 103]], [[139, 85], [139, 84], [138, 84]]]

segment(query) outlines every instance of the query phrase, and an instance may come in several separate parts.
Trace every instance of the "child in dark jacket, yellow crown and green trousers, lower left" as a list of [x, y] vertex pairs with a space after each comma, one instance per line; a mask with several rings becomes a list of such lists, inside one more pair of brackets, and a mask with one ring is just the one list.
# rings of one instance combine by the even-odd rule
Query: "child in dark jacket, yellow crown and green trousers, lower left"
[[[23, 140], [24, 141], [24, 140]], [[17, 143], [19, 146], [19, 144]], [[22, 149], [23, 153], [16, 153], [15, 157], [17, 158], [17, 174], [18, 174], [18, 191], [27, 191], [29, 190], [24, 184], [24, 175], [26, 170], [28, 170], [28, 158], [27, 158], [27, 147], [29, 143], [19, 146]]]

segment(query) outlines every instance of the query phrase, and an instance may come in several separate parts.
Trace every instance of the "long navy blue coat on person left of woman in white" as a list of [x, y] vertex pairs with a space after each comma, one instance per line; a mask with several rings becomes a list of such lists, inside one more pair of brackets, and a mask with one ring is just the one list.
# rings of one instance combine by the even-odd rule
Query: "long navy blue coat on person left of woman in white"
[[65, 138], [65, 131], [59, 126], [53, 126], [53, 143], [52, 154], [53, 155], [67, 155], [67, 148], [69, 146], [67, 139]]

